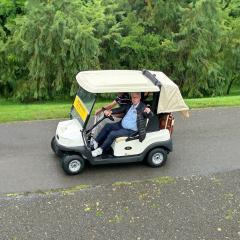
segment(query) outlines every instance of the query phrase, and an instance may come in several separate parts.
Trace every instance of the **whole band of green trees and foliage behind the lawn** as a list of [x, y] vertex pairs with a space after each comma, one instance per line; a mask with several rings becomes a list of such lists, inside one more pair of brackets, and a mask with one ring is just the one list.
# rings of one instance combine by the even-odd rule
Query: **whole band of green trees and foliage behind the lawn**
[[0, 95], [69, 97], [88, 69], [165, 72], [185, 96], [240, 86], [240, 0], [2, 0]]

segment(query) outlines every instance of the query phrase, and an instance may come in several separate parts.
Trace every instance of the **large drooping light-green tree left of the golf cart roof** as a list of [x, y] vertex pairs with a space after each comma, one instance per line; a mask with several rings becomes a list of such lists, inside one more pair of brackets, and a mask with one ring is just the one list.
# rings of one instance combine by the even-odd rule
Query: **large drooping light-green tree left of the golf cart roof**
[[[26, 15], [9, 26], [9, 56], [18, 59], [25, 74], [16, 79], [15, 96], [21, 100], [73, 95], [75, 75], [99, 68], [99, 41], [88, 20], [85, 1], [30, 1]], [[13, 69], [12, 75], [16, 75]]]

